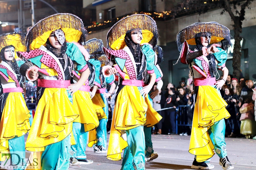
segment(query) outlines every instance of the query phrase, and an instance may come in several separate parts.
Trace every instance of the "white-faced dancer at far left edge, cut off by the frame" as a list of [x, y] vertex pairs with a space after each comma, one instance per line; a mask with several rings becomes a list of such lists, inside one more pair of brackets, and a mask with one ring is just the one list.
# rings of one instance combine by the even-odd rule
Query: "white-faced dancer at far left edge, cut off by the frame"
[[26, 51], [25, 35], [16, 32], [0, 35], [0, 50], [0, 161], [6, 158], [2, 154], [10, 151], [15, 169], [25, 169], [24, 135], [30, 130], [30, 114], [22, 94], [26, 88], [25, 77], [20, 75], [15, 59], [17, 51]]

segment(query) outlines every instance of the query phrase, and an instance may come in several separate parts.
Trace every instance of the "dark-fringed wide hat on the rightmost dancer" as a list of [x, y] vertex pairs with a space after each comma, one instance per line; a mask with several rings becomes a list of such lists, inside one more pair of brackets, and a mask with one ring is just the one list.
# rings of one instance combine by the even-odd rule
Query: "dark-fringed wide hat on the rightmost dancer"
[[196, 45], [195, 38], [203, 36], [211, 36], [210, 44], [220, 43], [224, 49], [231, 44], [228, 27], [218, 22], [197, 22], [181, 29], [177, 34], [176, 42], [179, 51], [184, 41], [187, 41], [189, 45]]

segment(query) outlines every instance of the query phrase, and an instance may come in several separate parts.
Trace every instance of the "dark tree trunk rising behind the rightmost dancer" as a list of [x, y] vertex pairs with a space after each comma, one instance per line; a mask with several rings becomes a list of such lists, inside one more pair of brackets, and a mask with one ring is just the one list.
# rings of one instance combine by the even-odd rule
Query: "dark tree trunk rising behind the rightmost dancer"
[[241, 44], [240, 41], [242, 38], [240, 37], [240, 33], [242, 31], [242, 25], [240, 24], [239, 18], [236, 18], [234, 21], [234, 33], [235, 33], [235, 44], [234, 44], [234, 52], [233, 52], [233, 77], [239, 80], [241, 73]]

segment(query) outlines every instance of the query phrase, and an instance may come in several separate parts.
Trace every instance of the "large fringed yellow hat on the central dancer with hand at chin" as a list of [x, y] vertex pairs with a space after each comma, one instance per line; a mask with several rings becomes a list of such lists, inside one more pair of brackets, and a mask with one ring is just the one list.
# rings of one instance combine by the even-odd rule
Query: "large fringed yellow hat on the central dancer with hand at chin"
[[153, 47], [157, 44], [159, 35], [153, 18], [144, 14], [134, 14], [119, 20], [110, 28], [106, 38], [107, 48], [113, 50], [123, 49], [126, 32], [135, 28], [142, 29], [143, 39], [141, 44], [149, 43]]

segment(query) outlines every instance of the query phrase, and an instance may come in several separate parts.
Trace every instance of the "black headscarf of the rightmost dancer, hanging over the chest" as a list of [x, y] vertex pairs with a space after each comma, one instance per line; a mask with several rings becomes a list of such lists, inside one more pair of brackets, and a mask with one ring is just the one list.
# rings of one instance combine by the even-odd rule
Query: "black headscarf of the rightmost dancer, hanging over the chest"
[[[202, 35], [200, 37], [207, 37], [207, 39], [208, 39], [208, 46], [207, 46], [207, 48], [210, 47], [211, 34], [207, 32], [207, 33], [205, 33], [205, 35]], [[196, 49], [198, 51], [201, 51], [202, 48], [203, 48], [203, 45], [201, 43], [201, 38], [200, 37], [195, 38]], [[215, 63], [215, 56], [213, 54], [208, 54], [208, 56], [206, 56], [206, 58], [209, 60], [209, 72], [210, 72], [210, 75], [211, 75], [211, 77], [215, 77], [215, 75], [217, 74], [216, 63]]]

